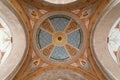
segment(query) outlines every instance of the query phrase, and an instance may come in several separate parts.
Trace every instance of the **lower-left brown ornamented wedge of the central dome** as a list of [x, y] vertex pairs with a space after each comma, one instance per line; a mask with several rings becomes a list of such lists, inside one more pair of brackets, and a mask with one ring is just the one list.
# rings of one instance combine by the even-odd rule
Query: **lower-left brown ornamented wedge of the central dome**
[[47, 47], [42, 49], [42, 54], [46, 57], [49, 57], [54, 49], [54, 44], [50, 44]]

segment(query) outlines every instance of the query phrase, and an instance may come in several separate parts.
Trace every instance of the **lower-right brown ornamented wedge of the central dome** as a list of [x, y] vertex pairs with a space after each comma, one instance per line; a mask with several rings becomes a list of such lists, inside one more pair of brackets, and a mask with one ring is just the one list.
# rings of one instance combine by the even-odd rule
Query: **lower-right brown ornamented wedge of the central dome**
[[77, 53], [78, 53], [78, 49], [73, 47], [72, 45], [70, 44], [66, 44], [65, 45], [65, 48], [66, 50], [68, 51], [69, 55], [72, 57], [72, 56], [75, 56]]

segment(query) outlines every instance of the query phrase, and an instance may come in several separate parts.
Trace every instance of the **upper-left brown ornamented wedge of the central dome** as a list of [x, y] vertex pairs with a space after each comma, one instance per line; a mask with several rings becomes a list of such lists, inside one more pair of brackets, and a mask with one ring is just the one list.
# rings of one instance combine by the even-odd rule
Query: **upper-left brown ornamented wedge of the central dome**
[[40, 28], [53, 34], [55, 32], [54, 28], [52, 27], [52, 24], [50, 23], [49, 19], [45, 20], [41, 25]]

